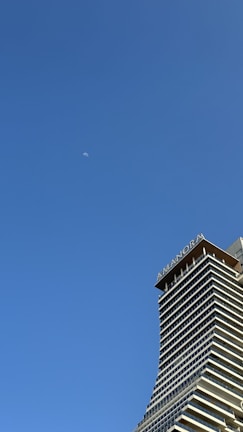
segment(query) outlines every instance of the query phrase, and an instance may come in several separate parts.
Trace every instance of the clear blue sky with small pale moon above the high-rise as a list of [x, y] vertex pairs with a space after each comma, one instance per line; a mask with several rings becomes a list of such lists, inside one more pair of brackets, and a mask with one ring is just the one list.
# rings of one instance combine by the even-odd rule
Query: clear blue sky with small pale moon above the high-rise
[[242, 0], [1, 1], [1, 431], [142, 419], [157, 273], [199, 232], [243, 235], [242, 20]]

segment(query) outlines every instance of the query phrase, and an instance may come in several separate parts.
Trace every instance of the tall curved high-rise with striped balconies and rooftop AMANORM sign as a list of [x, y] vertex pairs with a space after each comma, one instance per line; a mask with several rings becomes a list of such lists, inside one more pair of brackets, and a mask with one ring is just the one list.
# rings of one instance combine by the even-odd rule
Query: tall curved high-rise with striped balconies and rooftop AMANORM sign
[[243, 238], [199, 234], [159, 273], [159, 370], [135, 432], [243, 432]]

